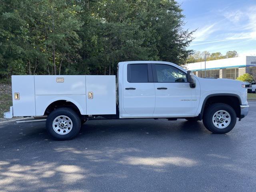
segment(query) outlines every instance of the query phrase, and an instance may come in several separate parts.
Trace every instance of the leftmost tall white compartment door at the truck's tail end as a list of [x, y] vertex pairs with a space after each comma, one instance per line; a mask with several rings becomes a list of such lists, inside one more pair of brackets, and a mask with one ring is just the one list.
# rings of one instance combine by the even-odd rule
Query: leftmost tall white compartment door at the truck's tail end
[[[15, 99], [14, 94], [19, 93], [20, 98]], [[12, 76], [12, 105], [13, 116], [35, 116], [35, 86], [33, 75]]]

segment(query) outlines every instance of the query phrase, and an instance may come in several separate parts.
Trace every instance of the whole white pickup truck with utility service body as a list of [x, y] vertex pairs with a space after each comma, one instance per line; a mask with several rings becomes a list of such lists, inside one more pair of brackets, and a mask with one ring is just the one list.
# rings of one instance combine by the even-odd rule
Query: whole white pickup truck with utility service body
[[243, 82], [199, 78], [159, 61], [119, 62], [117, 90], [115, 76], [12, 76], [12, 100], [5, 118], [46, 121], [57, 140], [74, 138], [86, 120], [103, 118], [203, 120], [208, 130], [224, 134], [249, 110]]

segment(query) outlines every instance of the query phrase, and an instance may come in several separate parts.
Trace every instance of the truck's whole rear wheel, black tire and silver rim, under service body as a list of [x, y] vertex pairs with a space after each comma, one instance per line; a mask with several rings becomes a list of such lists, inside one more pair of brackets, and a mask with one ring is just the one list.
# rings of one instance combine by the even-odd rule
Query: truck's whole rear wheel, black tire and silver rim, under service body
[[58, 108], [51, 112], [46, 120], [49, 134], [56, 140], [74, 138], [81, 127], [78, 114], [70, 108]]

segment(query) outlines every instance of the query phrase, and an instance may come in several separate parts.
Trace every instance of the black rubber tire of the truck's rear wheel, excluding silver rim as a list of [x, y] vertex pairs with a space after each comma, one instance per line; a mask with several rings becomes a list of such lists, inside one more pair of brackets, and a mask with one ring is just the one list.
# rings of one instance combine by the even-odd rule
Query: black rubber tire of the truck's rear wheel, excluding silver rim
[[[72, 121], [72, 128], [67, 134], [58, 134], [54, 131], [53, 121], [58, 116], [67, 116]], [[46, 120], [46, 128], [48, 133], [56, 140], [70, 140], [74, 138], [80, 131], [81, 119], [78, 114], [70, 108], [58, 108], [52, 111]]]

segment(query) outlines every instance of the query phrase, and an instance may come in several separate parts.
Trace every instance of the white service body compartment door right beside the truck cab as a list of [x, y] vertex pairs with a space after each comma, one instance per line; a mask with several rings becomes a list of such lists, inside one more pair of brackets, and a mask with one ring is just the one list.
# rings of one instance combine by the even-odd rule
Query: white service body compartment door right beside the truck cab
[[116, 76], [86, 75], [88, 115], [116, 114]]

